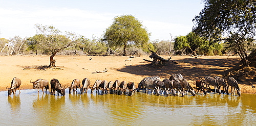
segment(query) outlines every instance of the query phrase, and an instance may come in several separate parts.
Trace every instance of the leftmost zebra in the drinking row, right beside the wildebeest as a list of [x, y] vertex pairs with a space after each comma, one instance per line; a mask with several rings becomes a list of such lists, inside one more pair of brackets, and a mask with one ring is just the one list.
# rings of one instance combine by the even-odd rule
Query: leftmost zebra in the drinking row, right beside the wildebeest
[[142, 89], [142, 92], [143, 92], [143, 90], [145, 88], [145, 93], [148, 93], [148, 89], [151, 89], [151, 92], [152, 92], [152, 90], [154, 90], [156, 87], [156, 85], [154, 85], [154, 83], [153, 83], [155, 80], [160, 80], [160, 78], [157, 76], [153, 76], [153, 77], [146, 77], [146, 78], [142, 79], [140, 81], [140, 83], [138, 84], [137, 91]]

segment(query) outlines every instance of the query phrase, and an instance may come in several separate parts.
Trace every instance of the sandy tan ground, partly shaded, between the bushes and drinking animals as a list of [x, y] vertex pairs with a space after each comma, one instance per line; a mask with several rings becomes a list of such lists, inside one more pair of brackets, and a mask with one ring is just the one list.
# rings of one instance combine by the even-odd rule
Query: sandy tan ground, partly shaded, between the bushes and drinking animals
[[[91, 83], [97, 79], [106, 81], [126, 81], [138, 84], [143, 78], [157, 75], [162, 79], [169, 78], [172, 73], [182, 73], [192, 87], [195, 87], [197, 79], [210, 75], [222, 77], [224, 70], [231, 68], [239, 62], [237, 56], [203, 56], [195, 59], [190, 56], [172, 56], [171, 62], [165, 65], [148, 66], [152, 60], [148, 56], [137, 58], [117, 56], [55, 56], [56, 66], [63, 70], [47, 69], [25, 69], [48, 65], [50, 56], [0, 56], [0, 91], [7, 90], [14, 77], [22, 80], [20, 89], [32, 89], [30, 80], [53, 78], [58, 79], [64, 86], [71, 85], [73, 79], [89, 78]], [[161, 56], [168, 59], [169, 56]], [[92, 60], [89, 60], [89, 59]], [[131, 59], [129, 61], [125, 61]], [[172, 62], [173, 61], [173, 62]], [[92, 73], [108, 69], [108, 72]], [[255, 84], [255, 82], [253, 82]], [[239, 82], [242, 93], [256, 94], [256, 89], [251, 88], [248, 83]], [[230, 90], [231, 91], [231, 90]]]

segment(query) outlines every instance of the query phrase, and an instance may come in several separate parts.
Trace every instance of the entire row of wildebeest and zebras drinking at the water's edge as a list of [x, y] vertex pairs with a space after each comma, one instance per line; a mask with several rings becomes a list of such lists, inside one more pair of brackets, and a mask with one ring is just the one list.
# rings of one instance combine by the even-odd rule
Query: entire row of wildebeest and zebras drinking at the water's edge
[[[49, 81], [44, 80], [44, 79], [38, 79], [34, 82], [30, 83], [33, 84], [33, 89], [39, 89], [41, 88], [42, 92], [44, 93], [44, 88], [45, 92], [49, 89]], [[11, 82], [11, 87], [7, 88], [8, 89], [8, 96], [11, 95], [11, 93], [15, 94], [16, 90], [19, 90], [20, 85], [22, 84], [22, 81], [20, 79], [14, 77], [12, 82]], [[51, 85], [51, 92], [50, 94], [55, 94], [55, 91], [57, 91], [57, 94], [61, 94], [62, 96], [65, 96], [65, 87], [61, 87], [61, 84], [57, 79], [52, 79], [50, 81]], [[227, 79], [227, 83], [224, 79], [216, 76], [214, 78], [212, 77], [205, 77], [204, 80], [196, 80], [196, 89], [197, 92], [194, 90], [193, 87], [187, 82], [186, 79], [183, 78], [183, 75], [178, 73], [178, 74], [172, 74], [169, 79], [163, 79], [162, 81], [160, 80], [159, 77], [153, 76], [153, 77], [146, 77], [140, 81], [138, 84], [137, 91], [140, 91], [142, 89], [142, 92], [148, 93], [149, 89], [151, 89], [151, 93], [155, 93], [156, 95], [182, 95], [184, 96], [184, 93], [186, 91], [186, 94], [188, 94], [188, 91], [190, 91], [191, 95], [195, 96], [199, 91], [200, 94], [206, 95], [207, 87], [210, 89], [209, 86], [214, 86], [215, 88], [215, 93], [221, 94], [221, 87], [223, 87], [223, 94], [226, 93], [228, 94], [228, 88], [229, 86], [231, 87], [231, 94], [234, 95], [235, 91], [237, 90], [237, 94], [241, 96], [241, 88], [238, 86], [238, 82], [232, 78], [229, 77]], [[136, 90], [134, 82], [129, 82], [126, 83], [125, 81], [120, 82], [119, 80], [116, 81], [110, 81], [107, 82], [105, 80], [96, 80], [95, 83], [91, 84], [91, 81], [88, 78], [84, 78], [82, 80], [82, 85], [80, 85], [80, 80], [79, 79], [74, 79], [71, 83], [69, 88], [69, 93], [73, 91], [77, 92], [77, 88], [80, 88], [80, 94], [82, 93], [87, 93], [88, 89], [91, 89], [91, 93], [96, 89], [96, 94], [125, 94], [125, 91], [128, 90], [128, 95], [132, 96]], [[234, 90], [233, 90], [234, 88]], [[101, 90], [101, 92], [100, 92]], [[19, 90], [20, 93], [20, 90]]]

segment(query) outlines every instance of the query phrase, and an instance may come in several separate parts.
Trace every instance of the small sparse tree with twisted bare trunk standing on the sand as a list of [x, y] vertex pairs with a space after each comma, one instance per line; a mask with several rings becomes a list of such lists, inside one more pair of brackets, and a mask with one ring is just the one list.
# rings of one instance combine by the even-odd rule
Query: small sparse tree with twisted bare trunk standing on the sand
[[43, 51], [49, 53], [50, 66], [55, 66], [55, 60], [53, 57], [62, 49], [65, 49], [74, 43], [76, 43], [76, 36], [73, 33], [66, 32], [66, 35], [60, 35], [60, 31], [53, 26], [42, 26], [41, 24], [35, 24], [37, 30], [37, 47]]

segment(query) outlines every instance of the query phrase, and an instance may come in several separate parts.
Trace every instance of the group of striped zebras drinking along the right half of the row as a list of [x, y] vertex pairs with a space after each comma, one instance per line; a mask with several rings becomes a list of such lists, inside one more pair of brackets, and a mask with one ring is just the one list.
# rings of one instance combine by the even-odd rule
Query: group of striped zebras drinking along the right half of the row
[[[206, 88], [210, 89], [210, 85], [214, 86], [215, 93], [221, 94], [221, 87], [223, 87], [223, 93], [228, 94], [228, 88], [231, 87], [231, 92], [234, 95], [235, 90], [237, 90], [237, 93], [239, 96], [241, 96], [241, 88], [238, 86], [238, 82], [232, 78], [229, 77], [227, 79], [227, 83], [224, 79], [216, 76], [214, 78], [212, 77], [205, 77], [205, 80], [197, 80], [196, 81], [196, 88], [197, 93], [199, 90], [201, 92], [204, 92], [206, 95]], [[234, 91], [233, 91], [234, 88]], [[141, 82], [138, 84], [137, 91], [140, 91], [142, 89], [142, 92], [148, 93], [148, 90], [151, 89], [151, 93], [155, 93], [156, 95], [181, 95], [184, 96], [184, 93], [186, 91], [186, 94], [188, 94], [188, 91], [190, 91], [191, 95], [195, 96], [195, 90], [191, 85], [186, 81], [186, 79], [183, 78], [183, 75], [178, 74], [172, 74], [169, 79], [163, 79], [160, 80], [159, 77], [153, 76], [153, 77], [146, 77], [141, 80]], [[201, 94], [200, 92], [200, 94]], [[165, 93], [165, 94], [163, 94]]]

